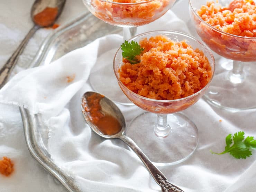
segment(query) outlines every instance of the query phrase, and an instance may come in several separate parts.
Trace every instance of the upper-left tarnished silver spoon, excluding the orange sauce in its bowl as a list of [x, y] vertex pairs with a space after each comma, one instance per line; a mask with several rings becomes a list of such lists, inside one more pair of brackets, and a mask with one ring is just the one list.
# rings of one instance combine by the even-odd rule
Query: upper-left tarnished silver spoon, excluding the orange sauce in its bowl
[[[20, 43], [19, 47], [16, 49], [16, 51], [11, 55], [11, 57], [9, 58], [9, 60], [3, 65], [3, 67], [0, 69], [0, 89], [3, 87], [4, 84], [6, 84], [8, 77], [10, 76], [10, 73], [12, 72], [14, 66], [16, 65], [18, 58], [20, 56], [20, 54], [23, 52], [25, 46], [27, 45], [29, 39], [34, 35], [34, 33], [41, 27], [49, 27], [52, 26], [54, 24], [54, 22], [56, 21], [56, 19], [58, 18], [58, 16], [60, 16], [64, 4], [65, 4], [66, 0], [36, 0], [31, 8], [31, 18], [34, 22], [34, 26], [30, 29], [30, 31], [28, 32], [28, 34], [25, 36], [25, 38], [22, 40], [22, 42]], [[55, 8], [57, 7], [57, 16], [55, 17], [55, 19], [46, 24], [46, 25], [39, 25], [35, 22], [34, 20], [34, 16], [43, 11], [45, 8], [47, 7], [51, 7], [51, 8]]]

